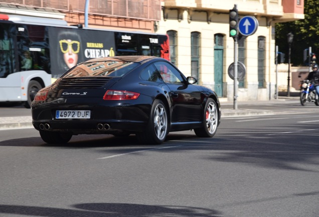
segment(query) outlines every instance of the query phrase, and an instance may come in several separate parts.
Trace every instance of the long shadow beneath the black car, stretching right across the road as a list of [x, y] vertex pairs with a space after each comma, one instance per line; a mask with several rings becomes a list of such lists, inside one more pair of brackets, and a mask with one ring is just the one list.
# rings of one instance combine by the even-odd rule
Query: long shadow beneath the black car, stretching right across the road
[[[284, 128], [287, 129], [287, 128]], [[222, 132], [222, 130], [220, 130]], [[105, 148], [99, 152], [105, 155], [137, 153], [156, 149], [157, 152], [190, 152], [204, 150], [202, 160], [248, 164], [255, 167], [275, 168], [282, 170], [298, 170], [319, 172], [317, 156], [319, 145], [317, 137], [319, 129], [313, 131], [284, 133], [265, 129], [234, 129], [232, 135], [223, 132], [214, 138], [198, 138], [194, 134], [169, 134], [162, 145], [140, 145], [134, 135], [129, 137], [113, 137], [109, 135], [79, 135], [65, 145], [46, 144], [40, 137], [14, 139], [0, 142], [1, 146], [23, 147], [59, 147], [60, 149], [93, 149]], [[243, 136], [243, 134], [245, 134]], [[157, 149], [159, 147], [174, 147]], [[137, 157], [139, 155], [136, 155]], [[304, 164], [302, 167], [300, 164]], [[298, 165], [298, 166], [297, 166]]]

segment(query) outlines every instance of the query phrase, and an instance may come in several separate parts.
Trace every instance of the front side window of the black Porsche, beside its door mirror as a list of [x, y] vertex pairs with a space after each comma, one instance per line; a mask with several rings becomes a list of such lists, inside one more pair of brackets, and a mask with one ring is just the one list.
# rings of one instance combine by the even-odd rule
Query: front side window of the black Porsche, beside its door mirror
[[165, 83], [181, 84], [183, 77], [172, 65], [167, 62], [155, 62], [156, 69], [161, 74]]

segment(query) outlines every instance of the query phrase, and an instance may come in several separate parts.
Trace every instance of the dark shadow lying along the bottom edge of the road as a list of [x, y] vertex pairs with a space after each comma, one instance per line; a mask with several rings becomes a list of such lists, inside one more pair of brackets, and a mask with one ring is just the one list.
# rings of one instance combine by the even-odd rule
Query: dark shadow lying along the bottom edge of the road
[[131, 203], [84, 203], [74, 205], [77, 209], [49, 208], [40, 206], [0, 205], [0, 213], [21, 214], [44, 217], [217, 217], [220, 213], [213, 209], [190, 206], [162, 206]]

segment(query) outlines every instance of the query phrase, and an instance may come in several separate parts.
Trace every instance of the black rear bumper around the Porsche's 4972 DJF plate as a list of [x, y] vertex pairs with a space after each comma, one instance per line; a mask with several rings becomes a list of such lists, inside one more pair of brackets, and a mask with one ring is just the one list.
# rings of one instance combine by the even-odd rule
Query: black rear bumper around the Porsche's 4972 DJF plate
[[[132, 103], [134, 102], [134, 103]], [[111, 134], [114, 131], [141, 132], [149, 119], [150, 105], [130, 100], [126, 103], [108, 101], [103, 104], [64, 104], [32, 107], [32, 123], [37, 130], [72, 132], [73, 134]], [[57, 119], [56, 111], [90, 111], [89, 119]]]

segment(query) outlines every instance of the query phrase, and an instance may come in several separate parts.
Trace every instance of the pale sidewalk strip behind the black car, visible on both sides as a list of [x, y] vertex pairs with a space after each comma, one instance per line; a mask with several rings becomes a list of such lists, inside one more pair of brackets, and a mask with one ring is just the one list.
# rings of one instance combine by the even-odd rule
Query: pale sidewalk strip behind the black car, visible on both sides
[[[226, 117], [243, 117], [243, 116], [256, 116], [256, 115], [272, 115], [273, 111], [270, 110], [252, 110], [247, 108], [241, 108], [240, 105], [249, 104], [262, 104], [262, 103], [282, 103], [286, 100], [299, 99], [299, 97], [280, 97], [273, 100], [263, 100], [263, 101], [238, 101], [237, 110], [234, 110], [233, 101], [226, 101], [226, 99], [220, 99], [222, 106], [222, 116]], [[1, 117], [0, 118], [0, 130], [6, 129], [16, 129], [16, 128], [33, 128], [32, 117], [30, 116], [20, 116], [20, 117]]]

